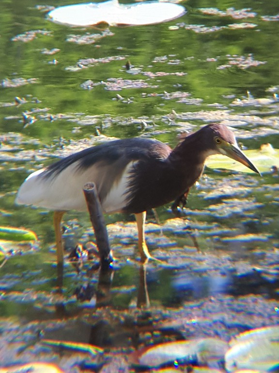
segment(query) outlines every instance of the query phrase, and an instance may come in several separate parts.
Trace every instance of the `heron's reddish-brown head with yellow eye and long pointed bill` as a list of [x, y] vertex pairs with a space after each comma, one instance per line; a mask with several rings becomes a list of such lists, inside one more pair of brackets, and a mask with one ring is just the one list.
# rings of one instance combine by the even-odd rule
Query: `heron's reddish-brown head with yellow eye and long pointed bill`
[[260, 171], [252, 164], [247, 156], [239, 149], [233, 132], [222, 124], [212, 123], [206, 127], [208, 141], [213, 153], [220, 153], [242, 163], [250, 170], [260, 174]]

